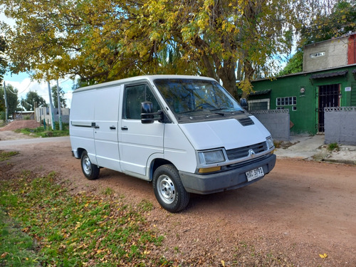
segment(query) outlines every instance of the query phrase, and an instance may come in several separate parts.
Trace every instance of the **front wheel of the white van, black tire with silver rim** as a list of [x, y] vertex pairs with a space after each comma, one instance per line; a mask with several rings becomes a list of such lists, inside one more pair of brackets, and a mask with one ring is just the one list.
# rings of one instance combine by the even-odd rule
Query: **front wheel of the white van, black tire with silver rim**
[[178, 212], [187, 207], [190, 195], [172, 164], [158, 167], [153, 174], [152, 182], [156, 199], [163, 209]]

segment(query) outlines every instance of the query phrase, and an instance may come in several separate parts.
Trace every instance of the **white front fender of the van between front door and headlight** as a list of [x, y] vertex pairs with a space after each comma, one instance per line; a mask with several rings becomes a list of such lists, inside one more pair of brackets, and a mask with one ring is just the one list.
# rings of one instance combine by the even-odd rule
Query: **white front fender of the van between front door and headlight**
[[197, 169], [195, 150], [177, 124], [167, 123], [165, 126], [164, 159], [172, 162], [179, 171], [194, 173]]

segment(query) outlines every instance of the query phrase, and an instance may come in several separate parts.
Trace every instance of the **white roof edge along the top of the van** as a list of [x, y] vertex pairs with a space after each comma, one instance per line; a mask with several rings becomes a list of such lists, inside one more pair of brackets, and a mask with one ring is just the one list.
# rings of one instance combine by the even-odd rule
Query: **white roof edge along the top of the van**
[[111, 82], [107, 83], [98, 83], [96, 85], [85, 86], [82, 88], [75, 89], [73, 93], [80, 92], [84, 90], [93, 90], [93, 89], [101, 89], [101, 88], [108, 88], [114, 85], [121, 85], [122, 83], [131, 83], [136, 81], [147, 81], [149, 80], [152, 82], [156, 79], [199, 79], [199, 80], [214, 80], [213, 78], [203, 77], [203, 76], [193, 76], [193, 75], [142, 75], [142, 76], [135, 76], [131, 78], [125, 78], [121, 80], [112, 80]]

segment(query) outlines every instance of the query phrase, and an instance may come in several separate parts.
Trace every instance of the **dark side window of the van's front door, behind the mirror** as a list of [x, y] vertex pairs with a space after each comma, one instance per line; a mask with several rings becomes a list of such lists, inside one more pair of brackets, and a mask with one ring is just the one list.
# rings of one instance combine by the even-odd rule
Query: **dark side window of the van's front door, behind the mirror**
[[125, 110], [124, 118], [130, 120], [141, 120], [141, 103], [152, 102], [152, 112], [161, 110], [158, 101], [148, 85], [132, 85], [125, 88]]

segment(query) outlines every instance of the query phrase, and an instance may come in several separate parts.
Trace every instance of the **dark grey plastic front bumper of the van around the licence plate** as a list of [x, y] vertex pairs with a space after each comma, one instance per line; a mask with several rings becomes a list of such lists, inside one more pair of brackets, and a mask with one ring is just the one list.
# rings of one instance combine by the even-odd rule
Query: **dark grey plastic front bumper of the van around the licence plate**
[[262, 167], [263, 173], [268, 174], [268, 172], [271, 172], [275, 164], [276, 155], [268, 155], [267, 157], [263, 157], [260, 161], [245, 164], [241, 167], [236, 167], [235, 169], [229, 169], [225, 172], [216, 172], [213, 174], [192, 174], [189, 172], [179, 171], [179, 175], [187, 192], [196, 194], [211, 194], [239, 187], [246, 187], [248, 184], [257, 182], [263, 177], [259, 177], [251, 182], [248, 182], [246, 172]]

